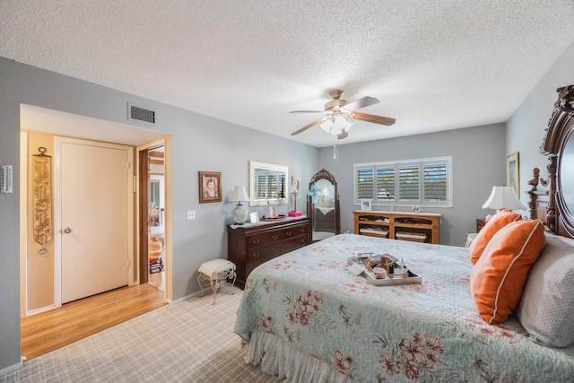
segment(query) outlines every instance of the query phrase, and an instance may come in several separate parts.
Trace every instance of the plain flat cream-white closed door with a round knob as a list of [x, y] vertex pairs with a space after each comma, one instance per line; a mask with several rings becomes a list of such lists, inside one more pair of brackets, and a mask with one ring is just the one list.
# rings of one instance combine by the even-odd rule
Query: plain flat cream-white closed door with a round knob
[[133, 251], [132, 149], [70, 141], [59, 147], [61, 303], [125, 286]]

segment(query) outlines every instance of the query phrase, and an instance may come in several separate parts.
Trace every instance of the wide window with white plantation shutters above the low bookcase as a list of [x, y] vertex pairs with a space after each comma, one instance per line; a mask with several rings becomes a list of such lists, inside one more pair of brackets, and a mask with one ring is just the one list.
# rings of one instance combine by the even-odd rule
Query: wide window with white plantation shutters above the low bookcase
[[452, 207], [452, 157], [354, 165], [354, 204]]

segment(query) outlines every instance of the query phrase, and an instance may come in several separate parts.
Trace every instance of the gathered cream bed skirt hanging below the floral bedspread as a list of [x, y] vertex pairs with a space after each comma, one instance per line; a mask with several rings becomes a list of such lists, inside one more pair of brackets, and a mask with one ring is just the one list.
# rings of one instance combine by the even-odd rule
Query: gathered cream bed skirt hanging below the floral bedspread
[[285, 382], [350, 383], [353, 380], [334, 366], [314, 356], [301, 353], [278, 337], [255, 330], [248, 347], [244, 347], [247, 363], [261, 366], [268, 375]]

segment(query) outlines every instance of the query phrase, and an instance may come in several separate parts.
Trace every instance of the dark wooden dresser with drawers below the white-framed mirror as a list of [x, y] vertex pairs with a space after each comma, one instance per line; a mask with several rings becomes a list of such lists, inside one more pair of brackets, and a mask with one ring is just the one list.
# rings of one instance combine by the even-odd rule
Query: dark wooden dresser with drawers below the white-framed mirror
[[309, 245], [309, 218], [287, 217], [275, 222], [227, 226], [227, 258], [237, 266], [239, 287], [258, 265]]

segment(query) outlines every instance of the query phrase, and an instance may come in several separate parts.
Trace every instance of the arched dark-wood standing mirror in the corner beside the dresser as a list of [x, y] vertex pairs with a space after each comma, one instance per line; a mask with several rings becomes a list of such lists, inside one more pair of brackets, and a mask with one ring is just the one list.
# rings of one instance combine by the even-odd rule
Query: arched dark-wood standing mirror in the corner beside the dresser
[[313, 241], [341, 232], [337, 181], [327, 170], [319, 170], [309, 182], [307, 213]]

